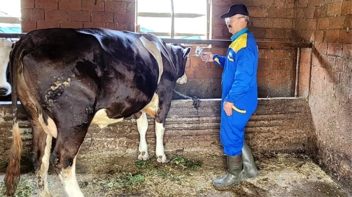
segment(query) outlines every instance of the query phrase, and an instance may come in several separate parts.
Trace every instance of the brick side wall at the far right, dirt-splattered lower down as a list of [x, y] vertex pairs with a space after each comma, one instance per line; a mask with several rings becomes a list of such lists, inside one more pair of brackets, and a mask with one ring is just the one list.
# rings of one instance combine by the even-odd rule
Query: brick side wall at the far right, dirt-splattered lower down
[[352, 0], [298, 0], [296, 6], [295, 39], [314, 42], [312, 57], [302, 51], [299, 87], [309, 94], [318, 145], [313, 155], [351, 187]]

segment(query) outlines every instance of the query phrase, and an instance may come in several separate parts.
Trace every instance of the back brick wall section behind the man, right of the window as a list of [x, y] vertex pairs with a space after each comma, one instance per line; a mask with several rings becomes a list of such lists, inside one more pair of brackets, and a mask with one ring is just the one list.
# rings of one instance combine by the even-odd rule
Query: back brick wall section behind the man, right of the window
[[[294, 0], [212, 0], [212, 39], [231, 38], [225, 21], [219, 16], [232, 4], [247, 6], [250, 31], [258, 41], [292, 41]], [[227, 48], [215, 47], [209, 51], [226, 55]], [[259, 50], [259, 97], [293, 96], [296, 53], [296, 50]], [[213, 63], [205, 64], [199, 57], [191, 57], [188, 66], [189, 82], [177, 85], [178, 90], [202, 98], [221, 97], [222, 68]]]

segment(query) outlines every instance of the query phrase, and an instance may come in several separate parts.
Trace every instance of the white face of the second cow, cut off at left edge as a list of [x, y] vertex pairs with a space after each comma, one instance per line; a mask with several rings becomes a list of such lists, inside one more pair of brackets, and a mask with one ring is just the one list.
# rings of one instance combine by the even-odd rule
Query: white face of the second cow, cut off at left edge
[[12, 41], [0, 38], [0, 96], [11, 94], [11, 85], [7, 82], [6, 70], [10, 61]]

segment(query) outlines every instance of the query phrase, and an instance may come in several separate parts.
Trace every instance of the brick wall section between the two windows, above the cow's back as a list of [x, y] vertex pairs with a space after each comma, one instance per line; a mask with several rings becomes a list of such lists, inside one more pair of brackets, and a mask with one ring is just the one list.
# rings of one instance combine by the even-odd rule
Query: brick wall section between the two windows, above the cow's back
[[106, 27], [134, 31], [134, 0], [21, 0], [22, 31]]

